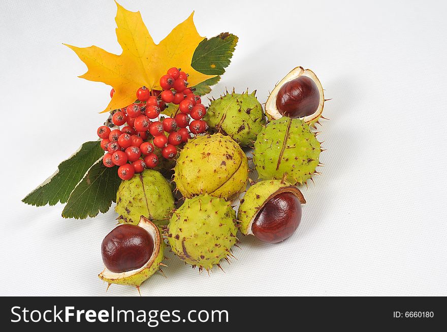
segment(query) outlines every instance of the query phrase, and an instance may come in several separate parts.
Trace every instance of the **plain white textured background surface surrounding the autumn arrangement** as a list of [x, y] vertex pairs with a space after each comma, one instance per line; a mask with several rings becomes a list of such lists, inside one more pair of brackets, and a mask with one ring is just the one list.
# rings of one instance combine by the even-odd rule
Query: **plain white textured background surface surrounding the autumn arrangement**
[[[225, 87], [269, 89], [297, 65], [326, 89], [321, 176], [303, 188], [298, 231], [267, 245], [242, 238], [222, 273], [173, 257], [143, 295], [447, 295], [447, 24], [441, 1], [130, 1], [155, 41], [192, 10], [202, 36], [239, 36]], [[2, 2], [0, 295], [105, 295], [100, 244], [111, 209], [60, 217], [20, 202], [80, 144], [96, 139], [110, 87], [77, 78], [63, 46], [119, 54], [108, 1]], [[136, 295], [112, 286], [106, 295]]]

